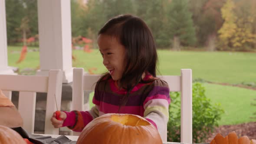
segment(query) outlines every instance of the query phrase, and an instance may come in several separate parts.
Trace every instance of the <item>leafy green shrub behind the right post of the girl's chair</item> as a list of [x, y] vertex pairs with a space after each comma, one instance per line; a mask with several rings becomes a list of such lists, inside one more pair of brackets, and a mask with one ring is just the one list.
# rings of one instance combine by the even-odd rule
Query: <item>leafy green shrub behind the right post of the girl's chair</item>
[[[205, 96], [205, 89], [200, 83], [193, 84], [193, 143], [202, 143], [218, 126], [220, 116], [224, 110], [220, 104], [212, 105]], [[181, 137], [181, 98], [179, 92], [171, 92], [171, 105], [169, 107], [169, 121], [167, 124], [168, 141], [180, 142]]]

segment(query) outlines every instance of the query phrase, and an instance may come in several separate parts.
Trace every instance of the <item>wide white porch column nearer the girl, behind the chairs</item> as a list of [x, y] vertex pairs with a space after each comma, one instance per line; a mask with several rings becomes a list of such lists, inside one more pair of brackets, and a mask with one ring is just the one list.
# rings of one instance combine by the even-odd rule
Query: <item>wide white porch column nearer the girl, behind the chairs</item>
[[70, 0], [38, 0], [40, 70], [63, 70], [63, 83], [72, 82]]

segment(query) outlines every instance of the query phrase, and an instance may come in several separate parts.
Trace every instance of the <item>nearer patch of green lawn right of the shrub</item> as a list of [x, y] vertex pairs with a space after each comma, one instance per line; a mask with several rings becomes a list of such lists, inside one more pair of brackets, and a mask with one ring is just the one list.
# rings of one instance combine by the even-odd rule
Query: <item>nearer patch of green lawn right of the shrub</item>
[[220, 103], [225, 110], [220, 120], [220, 125], [241, 124], [250, 121], [256, 121], [250, 117], [256, 117], [256, 91], [237, 88], [233, 86], [223, 86], [203, 83], [205, 94], [210, 98], [212, 103]]

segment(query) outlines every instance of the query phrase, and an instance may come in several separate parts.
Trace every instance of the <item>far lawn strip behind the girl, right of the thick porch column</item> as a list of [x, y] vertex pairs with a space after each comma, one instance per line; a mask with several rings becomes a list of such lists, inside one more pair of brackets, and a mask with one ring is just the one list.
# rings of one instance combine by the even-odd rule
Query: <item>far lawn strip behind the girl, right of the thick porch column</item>
[[[105, 72], [97, 49], [92, 53], [74, 51], [75, 67], [92, 68]], [[180, 69], [192, 69], [193, 79], [212, 82], [256, 82], [256, 53], [246, 52], [173, 52], [158, 50], [161, 75], [180, 75]], [[255, 78], [255, 79], [253, 79]]]

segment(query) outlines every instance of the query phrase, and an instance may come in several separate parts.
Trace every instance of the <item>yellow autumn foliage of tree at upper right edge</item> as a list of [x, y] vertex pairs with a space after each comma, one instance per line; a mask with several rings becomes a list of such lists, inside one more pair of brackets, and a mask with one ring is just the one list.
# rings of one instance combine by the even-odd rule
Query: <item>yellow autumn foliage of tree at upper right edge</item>
[[221, 9], [224, 19], [223, 26], [218, 31], [221, 43], [224, 46], [233, 47], [255, 43], [256, 33], [253, 33], [253, 15], [237, 15], [236, 10], [240, 10], [240, 7], [236, 6], [233, 0], [227, 0]]

